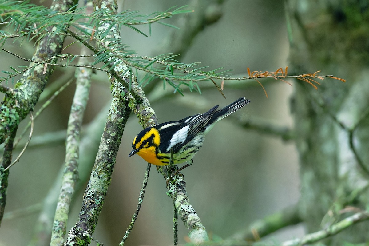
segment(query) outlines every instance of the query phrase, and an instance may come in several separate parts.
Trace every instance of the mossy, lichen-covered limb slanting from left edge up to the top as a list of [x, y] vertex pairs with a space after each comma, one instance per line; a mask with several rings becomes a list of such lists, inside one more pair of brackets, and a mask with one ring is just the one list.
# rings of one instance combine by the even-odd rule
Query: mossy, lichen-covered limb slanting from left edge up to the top
[[[55, 0], [51, 8], [56, 12], [65, 12], [76, 2], [76, 0]], [[51, 30], [52, 27], [49, 28], [49, 31]], [[64, 38], [64, 36], [52, 35], [41, 39], [32, 60], [40, 62], [60, 54]], [[53, 71], [53, 66], [48, 66], [45, 71], [43, 66], [37, 66], [25, 72], [15, 84], [13, 91], [8, 91], [0, 108], [0, 143], [3, 143], [18, 127], [19, 122], [33, 110]]]

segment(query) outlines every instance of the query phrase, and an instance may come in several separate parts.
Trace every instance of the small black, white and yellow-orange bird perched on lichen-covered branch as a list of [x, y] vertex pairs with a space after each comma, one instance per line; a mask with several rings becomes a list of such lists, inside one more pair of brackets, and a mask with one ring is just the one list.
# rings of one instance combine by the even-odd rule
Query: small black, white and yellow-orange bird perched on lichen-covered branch
[[194, 155], [203, 145], [204, 136], [214, 125], [248, 103], [250, 100], [241, 97], [221, 110], [217, 110], [219, 105], [216, 105], [203, 114], [145, 128], [133, 139], [128, 157], [137, 154], [148, 163], [166, 166], [169, 165], [172, 150], [174, 164], [187, 162], [176, 171], [179, 172], [193, 163]]

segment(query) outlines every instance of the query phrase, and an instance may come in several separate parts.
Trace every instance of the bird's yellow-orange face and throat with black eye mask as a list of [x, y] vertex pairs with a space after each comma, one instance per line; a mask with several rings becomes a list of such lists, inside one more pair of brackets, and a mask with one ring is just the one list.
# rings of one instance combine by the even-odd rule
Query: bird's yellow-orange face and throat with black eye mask
[[161, 166], [163, 163], [156, 157], [159, 144], [160, 136], [158, 130], [146, 128], [133, 139], [132, 151], [128, 157], [137, 153], [146, 162]]

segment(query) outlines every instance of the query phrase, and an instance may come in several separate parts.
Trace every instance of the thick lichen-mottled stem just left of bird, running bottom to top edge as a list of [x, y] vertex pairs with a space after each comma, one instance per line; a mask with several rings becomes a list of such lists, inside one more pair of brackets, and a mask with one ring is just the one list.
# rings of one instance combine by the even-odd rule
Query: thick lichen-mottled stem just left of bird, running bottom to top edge
[[[104, 9], [104, 13], [107, 14], [117, 13], [115, 1], [93, 1], [93, 4], [96, 10]], [[108, 35], [101, 40], [105, 45], [112, 42], [113, 39], [121, 40], [118, 25], [111, 25], [108, 21], [104, 22], [98, 28], [97, 35], [101, 35], [106, 30], [109, 30]], [[114, 71], [120, 74], [123, 74], [123, 71], [126, 69], [127, 67], [119, 65], [114, 67]], [[129, 73], [122, 76], [122, 78], [125, 82], [129, 81]], [[79, 219], [76, 225], [69, 231], [65, 245], [74, 245], [75, 243], [88, 245], [90, 243], [107, 189], [110, 185], [111, 174], [113, 173], [124, 126], [131, 112], [128, 107], [128, 93], [125, 93], [125, 88], [114, 77], [110, 76], [110, 80], [112, 83], [113, 100], [108, 112], [90, 181], [83, 195]]]

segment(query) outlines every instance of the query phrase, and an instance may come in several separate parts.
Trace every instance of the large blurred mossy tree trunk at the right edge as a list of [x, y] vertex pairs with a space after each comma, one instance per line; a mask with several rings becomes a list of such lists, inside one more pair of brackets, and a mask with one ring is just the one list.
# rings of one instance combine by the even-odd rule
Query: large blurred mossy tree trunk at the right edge
[[[287, 17], [292, 27], [289, 71], [322, 70], [321, 75], [347, 80], [314, 79], [321, 83], [318, 90], [301, 80], [294, 86], [299, 213], [307, 231], [314, 232], [368, 206], [369, 3], [290, 0]], [[364, 222], [328, 242], [368, 239]]]

